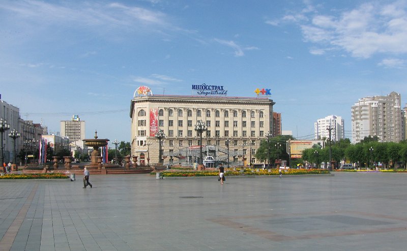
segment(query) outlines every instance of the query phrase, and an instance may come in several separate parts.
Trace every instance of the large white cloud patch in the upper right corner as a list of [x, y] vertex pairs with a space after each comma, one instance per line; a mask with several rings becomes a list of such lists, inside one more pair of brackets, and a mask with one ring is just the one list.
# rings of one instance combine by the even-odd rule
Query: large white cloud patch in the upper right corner
[[[300, 25], [305, 41], [316, 43], [318, 47], [334, 46], [355, 58], [407, 53], [407, 1], [365, 3], [331, 15], [317, 14], [307, 5], [300, 13], [289, 13], [278, 21], [266, 23], [283, 22]], [[326, 50], [311, 49], [310, 52], [323, 54]]]

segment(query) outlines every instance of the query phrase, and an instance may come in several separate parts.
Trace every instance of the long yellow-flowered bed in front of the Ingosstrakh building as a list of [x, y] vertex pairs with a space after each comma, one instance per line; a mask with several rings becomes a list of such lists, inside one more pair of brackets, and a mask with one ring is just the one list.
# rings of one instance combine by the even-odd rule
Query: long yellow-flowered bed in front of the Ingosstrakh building
[[[242, 171], [243, 170], [243, 171]], [[196, 171], [196, 170], [165, 170], [160, 172], [163, 177], [199, 177], [199, 176], [218, 176], [218, 171], [215, 169]], [[155, 175], [156, 172], [152, 172]], [[327, 170], [321, 169], [289, 169], [283, 172], [283, 175], [304, 175], [304, 174], [329, 174]], [[277, 169], [272, 169], [271, 172], [268, 170], [255, 170], [255, 169], [241, 169], [240, 171], [227, 170], [225, 171], [225, 176], [260, 176], [260, 175], [279, 175]]]

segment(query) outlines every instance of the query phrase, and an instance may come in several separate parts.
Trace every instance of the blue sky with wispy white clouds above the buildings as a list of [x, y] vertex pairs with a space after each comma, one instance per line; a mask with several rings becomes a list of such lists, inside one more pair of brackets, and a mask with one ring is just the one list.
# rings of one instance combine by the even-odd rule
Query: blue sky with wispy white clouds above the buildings
[[79, 115], [86, 137], [131, 141], [139, 86], [269, 96], [282, 130], [314, 136], [360, 98], [407, 102], [407, 0], [0, 0], [0, 94], [49, 133]]

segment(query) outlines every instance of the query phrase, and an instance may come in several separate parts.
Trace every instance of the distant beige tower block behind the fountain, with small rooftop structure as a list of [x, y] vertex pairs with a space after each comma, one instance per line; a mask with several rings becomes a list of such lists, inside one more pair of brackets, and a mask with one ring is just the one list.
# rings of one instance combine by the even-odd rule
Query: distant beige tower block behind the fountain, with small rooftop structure
[[81, 121], [78, 115], [72, 116], [72, 120], [61, 121], [61, 136], [69, 137], [74, 143], [85, 138], [85, 121]]

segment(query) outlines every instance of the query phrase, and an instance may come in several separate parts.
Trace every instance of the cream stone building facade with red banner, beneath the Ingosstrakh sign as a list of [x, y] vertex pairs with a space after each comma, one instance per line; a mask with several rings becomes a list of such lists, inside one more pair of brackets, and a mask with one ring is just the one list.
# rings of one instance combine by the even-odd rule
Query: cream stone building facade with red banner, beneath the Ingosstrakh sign
[[[230, 165], [254, 163], [260, 141], [273, 132], [274, 104], [267, 97], [135, 95], [130, 108], [132, 156], [138, 156], [140, 164], [158, 163], [160, 147], [155, 133], [160, 130], [165, 134], [161, 140], [163, 164], [192, 165], [200, 146], [204, 164], [209, 160], [229, 160]], [[198, 121], [208, 128], [202, 142], [195, 131]]]

